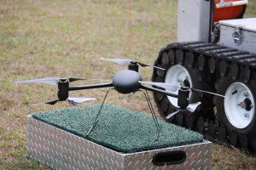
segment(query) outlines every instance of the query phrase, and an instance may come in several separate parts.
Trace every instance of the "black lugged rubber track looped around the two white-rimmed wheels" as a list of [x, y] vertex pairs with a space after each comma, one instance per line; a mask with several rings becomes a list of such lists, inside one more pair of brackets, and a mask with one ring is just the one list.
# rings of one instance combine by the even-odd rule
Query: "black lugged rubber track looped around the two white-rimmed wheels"
[[[176, 59], [177, 49], [183, 50], [183, 57], [181, 59]], [[195, 55], [195, 59], [186, 59], [187, 56], [192, 56], [189, 54], [192, 52]], [[187, 54], [188, 53], [188, 54]], [[183, 64], [189, 65], [189, 67], [197, 67], [199, 71], [206, 71], [208, 75], [219, 75], [226, 76], [227, 74], [231, 74], [232, 79], [235, 81], [239, 76], [239, 72], [243, 72], [243, 80], [244, 82], [249, 82], [252, 71], [256, 69], [256, 54], [249, 54], [245, 51], [241, 51], [235, 48], [228, 48], [224, 46], [220, 46], [213, 43], [206, 42], [177, 42], [171, 43], [166, 46], [166, 48], [162, 48], [160, 50], [160, 54], [158, 58], [155, 60], [154, 64], [159, 65], [161, 63], [161, 56], [163, 54], [167, 54], [169, 56], [169, 64]], [[172, 56], [172, 57], [170, 57]], [[175, 60], [176, 59], [176, 60]], [[198, 59], [201, 61], [198, 62]], [[209, 67], [209, 60], [212, 59], [212, 66]], [[219, 65], [222, 63], [223, 72], [219, 72]], [[157, 77], [162, 77], [160, 71], [154, 70], [154, 74], [152, 79], [155, 80], [155, 75]], [[222, 75], [220, 75], [222, 74]], [[202, 77], [199, 77], [202, 79]], [[160, 79], [160, 78], [158, 78]], [[158, 80], [162, 81], [163, 80]], [[200, 81], [199, 81], [200, 82]], [[213, 86], [213, 88], [218, 88], [218, 79]], [[210, 84], [204, 84], [204, 86], [208, 86], [211, 88]], [[156, 101], [163, 102], [164, 97], [154, 94], [154, 99]], [[216, 105], [216, 97], [213, 98], [213, 103]], [[160, 109], [160, 103], [156, 102], [160, 114], [162, 114]], [[170, 107], [164, 107], [165, 111], [173, 111]], [[189, 127], [197, 130], [200, 133], [203, 133], [207, 139], [211, 139], [213, 142], [217, 142], [219, 144], [231, 144], [240, 147], [242, 150], [248, 150], [248, 140], [247, 135], [243, 133], [229, 132], [224, 125], [216, 126], [216, 122], [210, 121], [205, 125], [205, 118], [199, 117], [195, 122], [195, 125], [192, 124], [191, 117], [184, 116], [176, 116], [172, 118], [172, 120], [168, 120], [168, 122], [174, 122], [180, 124], [184, 127]], [[246, 143], [246, 144], [245, 144]]]

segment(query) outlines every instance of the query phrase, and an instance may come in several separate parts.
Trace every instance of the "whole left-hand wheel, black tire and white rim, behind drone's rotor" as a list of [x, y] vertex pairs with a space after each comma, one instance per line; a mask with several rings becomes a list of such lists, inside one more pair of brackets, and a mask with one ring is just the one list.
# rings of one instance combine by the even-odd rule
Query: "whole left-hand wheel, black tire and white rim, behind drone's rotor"
[[[160, 55], [160, 59], [158, 59], [158, 63], [156, 63], [156, 65], [165, 68], [166, 72], [163, 73], [162, 71], [156, 71], [156, 74], [153, 75], [152, 78], [153, 82], [158, 82], [159, 79], [163, 82], [179, 85], [184, 85], [184, 82], [186, 82], [190, 88], [213, 91], [213, 88], [207, 84], [207, 82], [209, 82], [209, 77], [207, 77], [207, 75], [202, 71], [199, 71], [196, 64], [197, 62], [195, 62], [196, 57], [193, 53], [184, 52], [182, 49], [177, 50], [176, 53], [174, 53], [173, 50], [171, 50], [171, 52], [163, 52]], [[193, 57], [194, 59], [187, 59], [187, 57]], [[214, 85], [214, 82], [212, 85]], [[154, 96], [157, 96], [157, 93], [154, 94]], [[166, 119], [166, 116], [177, 111], [176, 98], [165, 96], [162, 100], [157, 99], [157, 97], [154, 99], [158, 105], [160, 115], [163, 118]], [[195, 103], [198, 101], [201, 101], [202, 105], [200, 110], [196, 111], [195, 115], [191, 116], [189, 113], [183, 112], [174, 116], [173, 119], [166, 121], [195, 130], [200, 116], [204, 117], [205, 121], [208, 119], [214, 121], [212, 95], [200, 93], [192, 93], [189, 95], [189, 103]]]

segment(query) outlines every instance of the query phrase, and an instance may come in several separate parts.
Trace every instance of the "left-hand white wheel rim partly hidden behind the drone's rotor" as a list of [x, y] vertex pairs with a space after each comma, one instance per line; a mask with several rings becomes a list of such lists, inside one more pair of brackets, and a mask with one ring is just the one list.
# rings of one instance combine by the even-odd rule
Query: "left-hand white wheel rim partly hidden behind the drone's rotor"
[[[166, 73], [166, 83], [172, 83], [177, 85], [182, 85], [182, 82], [187, 79], [190, 84], [190, 88], [193, 88], [191, 77], [189, 75], [189, 71], [185, 69], [182, 65], [172, 65], [172, 67], [169, 68], [169, 70]], [[166, 90], [167, 91], [167, 90]], [[178, 91], [172, 94], [178, 94]], [[167, 97], [171, 104], [175, 107], [178, 107], [177, 105], [177, 98], [173, 98], [168, 96]], [[189, 99], [191, 98], [191, 94], [189, 94]]]

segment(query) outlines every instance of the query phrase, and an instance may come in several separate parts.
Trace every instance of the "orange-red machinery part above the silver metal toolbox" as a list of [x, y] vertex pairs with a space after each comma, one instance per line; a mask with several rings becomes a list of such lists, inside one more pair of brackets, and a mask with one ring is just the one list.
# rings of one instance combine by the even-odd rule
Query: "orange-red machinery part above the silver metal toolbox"
[[[239, 0], [226, 0], [225, 2], [236, 2]], [[220, 3], [220, 0], [215, 0], [215, 4]], [[213, 22], [218, 22], [219, 20], [232, 20], [241, 18], [245, 12], [246, 5], [236, 6], [236, 7], [226, 7], [226, 8], [216, 8], [214, 9]]]

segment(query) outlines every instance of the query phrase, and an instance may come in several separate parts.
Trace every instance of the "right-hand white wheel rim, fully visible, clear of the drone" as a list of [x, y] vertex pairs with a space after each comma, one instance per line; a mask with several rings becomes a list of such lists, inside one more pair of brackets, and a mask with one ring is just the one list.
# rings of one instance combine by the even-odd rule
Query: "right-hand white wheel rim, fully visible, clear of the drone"
[[[227, 98], [224, 99], [224, 111], [230, 124], [236, 128], [248, 127], [253, 121], [255, 111], [255, 103], [250, 88], [244, 83], [234, 82], [227, 89], [225, 96]], [[244, 108], [245, 99], [250, 99], [251, 101], [251, 109], [249, 111]]]

